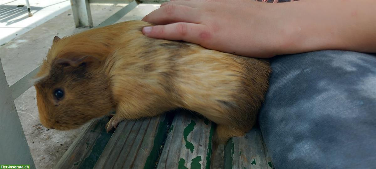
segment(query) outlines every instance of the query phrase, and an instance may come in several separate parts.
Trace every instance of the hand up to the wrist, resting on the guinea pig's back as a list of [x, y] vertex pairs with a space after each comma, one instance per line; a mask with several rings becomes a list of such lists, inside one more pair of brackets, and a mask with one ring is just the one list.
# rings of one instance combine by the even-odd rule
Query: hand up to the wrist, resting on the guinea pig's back
[[273, 57], [291, 34], [274, 4], [251, 0], [173, 0], [143, 18], [151, 38], [182, 40], [251, 57]]

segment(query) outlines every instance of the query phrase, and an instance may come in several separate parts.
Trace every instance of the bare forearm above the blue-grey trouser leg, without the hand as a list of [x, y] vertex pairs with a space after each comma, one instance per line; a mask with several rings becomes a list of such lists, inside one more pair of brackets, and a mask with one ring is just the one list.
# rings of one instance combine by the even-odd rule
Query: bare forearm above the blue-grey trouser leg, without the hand
[[275, 5], [286, 17], [281, 23], [286, 41], [277, 54], [326, 49], [376, 52], [374, 0], [302, 0]]

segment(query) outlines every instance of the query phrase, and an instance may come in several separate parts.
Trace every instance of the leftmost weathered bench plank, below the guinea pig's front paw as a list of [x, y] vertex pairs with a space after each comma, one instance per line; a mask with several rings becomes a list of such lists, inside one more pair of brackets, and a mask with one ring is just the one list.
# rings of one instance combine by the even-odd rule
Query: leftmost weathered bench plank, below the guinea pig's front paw
[[61, 157], [56, 169], [92, 168], [110, 140], [112, 132], [106, 132], [108, 116], [95, 119], [86, 125], [76, 140]]

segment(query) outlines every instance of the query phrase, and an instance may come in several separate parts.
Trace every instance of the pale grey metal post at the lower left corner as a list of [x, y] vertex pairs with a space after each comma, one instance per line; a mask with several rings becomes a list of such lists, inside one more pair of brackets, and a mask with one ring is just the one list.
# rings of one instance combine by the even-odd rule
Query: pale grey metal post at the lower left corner
[[35, 164], [0, 59], [0, 164]]

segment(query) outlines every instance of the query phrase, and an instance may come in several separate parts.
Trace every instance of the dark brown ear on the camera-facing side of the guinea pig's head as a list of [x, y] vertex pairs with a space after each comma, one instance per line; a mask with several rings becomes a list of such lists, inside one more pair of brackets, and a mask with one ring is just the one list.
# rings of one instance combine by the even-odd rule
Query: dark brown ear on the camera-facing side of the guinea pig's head
[[93, 56], [71, 56], [56, 59], [55, 65], [63, 67], [95, 66], [98, 65], [99, 62], [100, 60]]

